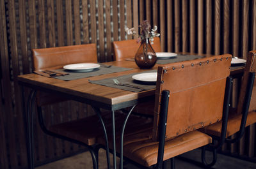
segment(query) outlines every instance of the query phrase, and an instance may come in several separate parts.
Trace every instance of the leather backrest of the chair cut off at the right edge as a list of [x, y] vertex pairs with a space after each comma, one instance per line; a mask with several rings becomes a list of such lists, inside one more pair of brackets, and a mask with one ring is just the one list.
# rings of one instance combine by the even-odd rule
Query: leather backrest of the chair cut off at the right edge
[[[237, 104], [237, 114], [241, 114], [243, 112], [244, 97], [245, 97], [246, 88], [248, 85], [248, 77], [250, 72], [256, 72], [256, 50], [250, 51], [246, 59], [246, 65], [244, 68], [243, 80], [241, 83], [241, 90], [240, 90], [238, 104]], [[256, 110], [256, 82], [254, 82], [253, 84], [249, 112], [252, 112], [255, 110]]]

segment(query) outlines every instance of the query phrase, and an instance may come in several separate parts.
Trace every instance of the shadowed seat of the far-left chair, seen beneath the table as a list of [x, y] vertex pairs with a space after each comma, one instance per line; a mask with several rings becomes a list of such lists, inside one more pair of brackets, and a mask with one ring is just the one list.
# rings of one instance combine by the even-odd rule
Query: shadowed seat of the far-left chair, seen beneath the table
[[[102, 119], [106, 126], [107, 132], [111, 132], [112, 128], [112, 112], [102, 113]], [[122, 124], [127, 115], [122, 112], [115, 113], [115, 125], [116, 132], [120, 132]], [[131, 120], [127, 122], [127, 126], [134, 126], [136, 124], [146, 124], [150, 122], [150, 119], [138, 118], [131, 115]], [[49, 127], [49, 130], [61, 136], [66, 136], [79, 142], [86, 143], [87, 145], [93, 145], [97, 143], [97, 138], [104, 135], [102, 124], [100, 123], [97, 115], [85, 117], [83, 119], [77, 119], [75, 121], [63, 122]]]

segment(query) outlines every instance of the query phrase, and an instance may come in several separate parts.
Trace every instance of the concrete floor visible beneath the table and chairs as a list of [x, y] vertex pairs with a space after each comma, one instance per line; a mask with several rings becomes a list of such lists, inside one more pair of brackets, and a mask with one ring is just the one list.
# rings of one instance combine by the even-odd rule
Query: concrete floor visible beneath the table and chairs
[[[196, 149], [195, 151], [188, 152], [182, 155], [183, 157], [195, 159], [196, 161], [200, 161], [200, 150]], [[100, 149], [99, 152], [99, 169], [105, 169], [106, 166], [106, 152]], [[112, 160], [111, 160], [112, 161]], [[169, 166], [169, 161], [167, 162], [167, 166]], [[49, 163], [47, 165], [39, 166], [36, 169], [80, 169], [86, 168], [91, 169], [92, 166], [92, 158], [90, 156], [90, 152], [83, 152], [81, 154], [77, 154], [76, 156], [72, 156], [70, 158], [61, 159], [59, 161], [55, 161], [53, 163]], [[169, 168], [169, 167], [168, 167]], [[177, 169], [200, 169], [201, 167], [188, 163], [186, 161], [182, 161], [180, 159], [175, 159], [175, 168]], [[216, 165], [212, 168], [218, 169], [256, 169], [256, 163], [251, 163], [248, 161], [244, 161], [237, 158], [231, 158], [229, 156], [224, 156], [222, 154], [218, 154], [218, 160]], [[134, 165], [129, 163], [124, 164], [124, 169], [139, 169]]]

